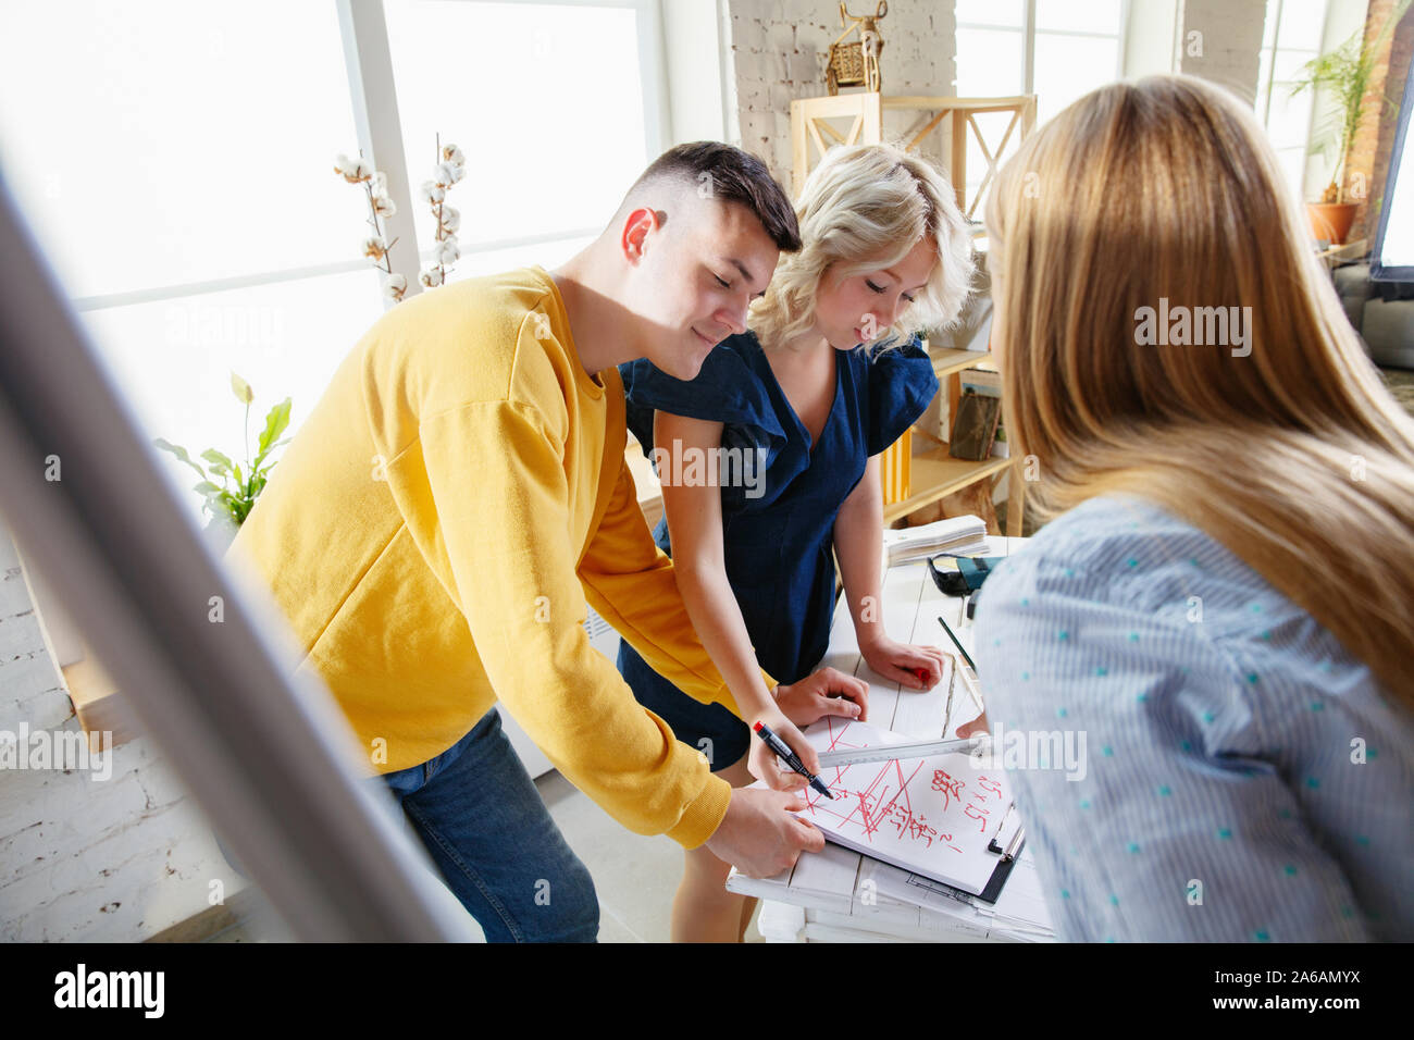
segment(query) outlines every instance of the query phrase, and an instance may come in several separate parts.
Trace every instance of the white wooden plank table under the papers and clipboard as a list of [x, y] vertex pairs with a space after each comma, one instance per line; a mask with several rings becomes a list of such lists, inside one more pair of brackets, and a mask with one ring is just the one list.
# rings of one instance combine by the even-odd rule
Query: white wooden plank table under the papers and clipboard
[[[1024, 543], [1019, 538], [988, 538], [988, 556], [1007, 556]], [[889, 567], [882, 587], [884, 625], [904, 642], [932, 644], [956, 655], [956, 647], [937, 624], [942, 617], [971, 654], [971, 623], [964, 617], [964, 599], [945, 596], [933, 584], [928, 565], [905, 563]], [[850, 607], [841, 594], [830, 628], [830, 645], [822, 666], [830, 665], [870, 683], [870, 723], [916, 740], [953, 736], [959, 726], [977, 717], [978, 707], [953, 669], [952, 682], [930, 691], [901, 689], [871, 671], [860, 654]], [[952, 715], [945, 719], [949, 691]], [[731, 891], [762, 900], [758, 927], [766, 941], [1053, 941], [1051, 918], [1041, 896], [1035, 865], [1022, 850], [1003, 889], [994, 911], [962, 904], [929, 890], [921, 879], [861, 856], [839, 845], [823, 852], [803, 853], [790, 870], [776, 877], [754, 879], [735, 870], [727, 880]], [[891, 899], [908, 884], [926, 906]], [[995, 915], [1008, 918], [1003, 927]], [[1028, 927], [1014, 927], [1015, 920]]]

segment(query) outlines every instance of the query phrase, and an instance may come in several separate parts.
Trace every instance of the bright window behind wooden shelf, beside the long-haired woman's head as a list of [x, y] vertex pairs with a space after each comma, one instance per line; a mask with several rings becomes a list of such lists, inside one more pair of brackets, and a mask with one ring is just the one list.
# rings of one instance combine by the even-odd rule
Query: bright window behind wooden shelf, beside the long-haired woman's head
[[[1039, 126], [1121, 75], [1126, 0], [957, 0], [956, 13], [959, 98], [1035, 93]], [[993, 149], [1005, 120], [978, 117]], [[969, 140], [969, 197], [984, 174], [981, 150]]]

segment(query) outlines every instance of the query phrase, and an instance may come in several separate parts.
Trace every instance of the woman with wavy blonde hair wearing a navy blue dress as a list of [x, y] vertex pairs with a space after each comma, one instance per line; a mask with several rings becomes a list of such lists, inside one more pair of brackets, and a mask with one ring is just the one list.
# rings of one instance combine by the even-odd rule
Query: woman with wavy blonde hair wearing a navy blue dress
[[[831, 550], [870, 668], [911, 689], [930, 688], [942, 675], [942, 651], [884, 631], [878, 454], [937, 392], [912, 334], [956, 320], [973, 266], [971, 236], [946, 178], [891, 146], [829, 151], [806, 180], [796, 216], [802, 248], [782, 256], [751, 310], [751, 331], [715, 330], [727, 338], [696, 379], [673, 379], [646, 361], [621, 369], [629, 426], [663, 481], [656, 541], [673, 556], [687, 613], [723, 676], [732, 691], [756, 696], [737, 705], [740, 717], [701, 705], [628, 644], [619, 671], [720, 775], [735, 785], [755, 775], [779, 790], [799, 790], [805, 780], [782, 770], [748, 726], [765, 723], [817, 767], [761, 669], [789, 683], [824, 655], [834, 614]], [[703, 272], [720, 282], [734, 276], [727, 260]], [[687, 466], [721, 450], [737, 453], [734, 473], [748, 478], [721, 468], [720, 480], [694, 480]], [[860, 702], [809, 705], [800, 715], [863, 719], [867, 699]], [[725, 890], [728, 869], [706, 849], [687, 852], [674, 940], [742, 937], [754, 901]]]

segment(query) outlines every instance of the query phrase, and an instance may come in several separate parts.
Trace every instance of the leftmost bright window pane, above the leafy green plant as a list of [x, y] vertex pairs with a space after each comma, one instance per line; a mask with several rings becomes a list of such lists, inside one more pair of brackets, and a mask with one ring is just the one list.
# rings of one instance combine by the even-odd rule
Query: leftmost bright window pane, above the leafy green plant
[[4, 175], [146, 432], [232, 451], [230, 369], [308, 415], [380, 313], [334, 6], [13, 4], [0, 54]]

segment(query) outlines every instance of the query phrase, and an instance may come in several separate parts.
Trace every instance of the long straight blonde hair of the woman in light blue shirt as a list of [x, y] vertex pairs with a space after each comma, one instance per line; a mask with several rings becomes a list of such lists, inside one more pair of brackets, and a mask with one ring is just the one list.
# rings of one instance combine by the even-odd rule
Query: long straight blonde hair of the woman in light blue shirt
[[[1251, 112], [1191, 76], [1094, 91], [1007, 163], [987, 226], [1004, 422], [1039, 515], [1109, 492], [1167, 508], [1414, 710], [1414, 420]], [[1141, 331], [1206, 307], [1250, 307], [1246, 345]]]

